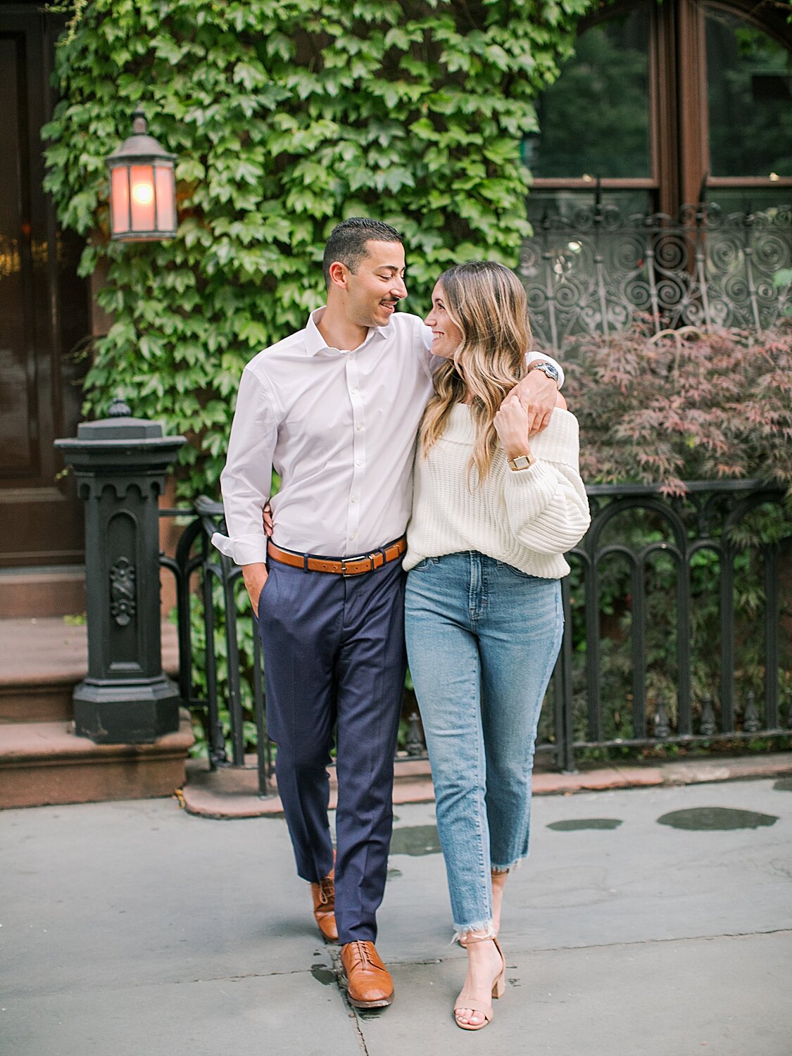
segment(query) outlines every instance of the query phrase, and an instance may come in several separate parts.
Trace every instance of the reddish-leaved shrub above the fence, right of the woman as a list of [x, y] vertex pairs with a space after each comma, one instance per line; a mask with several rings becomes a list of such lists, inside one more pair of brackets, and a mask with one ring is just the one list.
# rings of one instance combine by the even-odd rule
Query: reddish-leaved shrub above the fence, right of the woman
[[792, 323], [652, 338], [642, 322], [569, 350], [564, 394], [588, 484], [756, 477], [792, 487]]

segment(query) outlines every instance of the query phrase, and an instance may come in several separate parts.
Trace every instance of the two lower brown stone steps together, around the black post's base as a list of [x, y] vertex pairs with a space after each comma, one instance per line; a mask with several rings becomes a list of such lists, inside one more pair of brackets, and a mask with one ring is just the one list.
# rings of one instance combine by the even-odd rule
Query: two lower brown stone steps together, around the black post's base
[[[176, 628], [163, 624], [166, 673], [178, 670]], [[170, 795], [192, 744], [187, 712], [154, 744], [77, 737], [72, 691], [88, 668], [84, 626], [62, 618], [0, 619], [0, 808]]]

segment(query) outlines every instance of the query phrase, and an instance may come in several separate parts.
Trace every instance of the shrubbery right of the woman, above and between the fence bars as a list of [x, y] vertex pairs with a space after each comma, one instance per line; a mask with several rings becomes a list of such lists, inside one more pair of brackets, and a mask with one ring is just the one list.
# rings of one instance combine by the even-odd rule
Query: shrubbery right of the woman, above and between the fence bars
[[[639, 321], [609, 339], [579, 344], [565, 360], [565, 394], [581, 423], [581, 464], [588, 484], [654, 484], [677, 496], [687, 511], [687, 542], [698, 538], [684, 480], [756, 478], [792, 491], [792, 324], [759, 336], [738, 332], [701, 334], [687, 328], [650, 338]], [[713, 516], [712, 536], [721, 540]], [[792, 505], [766, 504], [730, 532], [735, 548], [735, 689], [739, 717], [753, 693], [763, 718], [765, 565], [762, 548], [792, 535]], [[631, 510], [608, 526], [602, 545], [639, 551], [653, 543], [675, 544], [667, 523], [650, 511]], [[785, 551], [782, 551], [785, 552]], [[789, 549], [786, 550], [789, 566]], [[691, 683], [694, 730], [702, 701], [717, 711], [720, 682], [720, 562], [699, 550], [690, 562]], [[656, 553], [643, 570], [646, 589], [647, 729], [655, 703], [677, 715], [676, 566]], [[586, 633], [580, 565], [573, 562], [572, 601], [574, 727], [587, 739]], [[600, 566], [600, 681], [603, 735], [628, 738], [633, 730], [630, 637], [634, 631], [630, 572], [618, 555]], [[789, 590], [781, 615], [792, 616]], [[792, 656], [781, 637], [781, 721], [792, 705]]]

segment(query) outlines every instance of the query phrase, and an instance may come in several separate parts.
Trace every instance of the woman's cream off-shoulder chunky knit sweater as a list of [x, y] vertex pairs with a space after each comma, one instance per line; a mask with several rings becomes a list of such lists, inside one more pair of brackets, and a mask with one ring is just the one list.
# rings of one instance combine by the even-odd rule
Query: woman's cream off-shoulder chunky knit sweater
[[482, 486], [472, 471], [471, 490], [474, 441], [470, 411], [456, 403], [428, 456], [416, 453], [404, 569], [423, 558], [478, 550], [530, 576], [566, 576], [563, 554], [585, 535], [590, 520], [578, 472], [578, 419], [557, 408], [547, 429], [531, 437], [536, 461], [528, 469], [509, 469], [498, 444]]

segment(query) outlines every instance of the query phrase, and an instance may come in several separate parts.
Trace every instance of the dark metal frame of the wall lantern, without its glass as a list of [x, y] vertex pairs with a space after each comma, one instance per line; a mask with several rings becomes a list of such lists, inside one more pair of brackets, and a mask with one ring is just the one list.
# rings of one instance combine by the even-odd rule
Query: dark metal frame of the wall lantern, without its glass
[[[124, 140], [107, 158], [110, 173], [110, 237], [116, 242], [152, 242], [172, 239], [176, 233], [176, 155], [166, 151], [157, 140], [148, 134], [146, 114], [137, 109], [133, 114], [132, 135]], [[134, 168], [151, 170], [153, 226], [135, 229], [133, 225], [133, 177]], [[119, 170], [126, 170], [126, 178], [114, 178]], [[126, 202], [117, 201], [118, 191], [126, 188]], [[126, 208], [126, 227], [116, 227], [117, 210]]]

